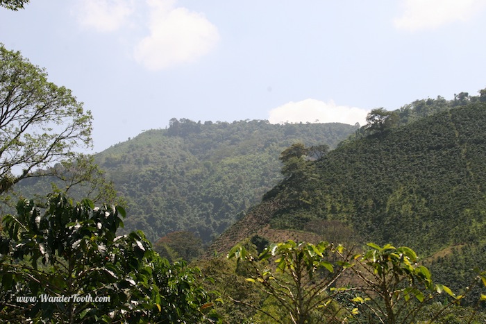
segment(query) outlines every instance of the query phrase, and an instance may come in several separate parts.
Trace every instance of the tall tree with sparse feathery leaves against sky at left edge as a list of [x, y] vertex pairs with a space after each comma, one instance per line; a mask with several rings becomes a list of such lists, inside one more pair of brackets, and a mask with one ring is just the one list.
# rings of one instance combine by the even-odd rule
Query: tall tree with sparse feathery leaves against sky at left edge
[[0, 194], [36, 176], [35, 169], [76, 160], [76, 149], [92, 146], [91, 130], [91, 112], [69, 89], [48, 82], [44, 69], [0, 44]]

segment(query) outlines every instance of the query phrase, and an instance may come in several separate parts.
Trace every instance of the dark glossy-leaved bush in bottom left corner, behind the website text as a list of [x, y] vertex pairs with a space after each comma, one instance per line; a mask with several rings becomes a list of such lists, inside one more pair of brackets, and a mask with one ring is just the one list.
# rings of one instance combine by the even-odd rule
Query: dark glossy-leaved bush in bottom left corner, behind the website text
[[[74, 204], [62, 194], [51, 195], [45, 208], [19, 201], [17, 216], [3, 219], [2, 320], [202, 321], [211, 304], [194, 284], [199, 272], [169, 265], [142, 232], [116, 236], [124, 216], [119, 206]], [[22, 296], [34, 300], [17, 299]]]

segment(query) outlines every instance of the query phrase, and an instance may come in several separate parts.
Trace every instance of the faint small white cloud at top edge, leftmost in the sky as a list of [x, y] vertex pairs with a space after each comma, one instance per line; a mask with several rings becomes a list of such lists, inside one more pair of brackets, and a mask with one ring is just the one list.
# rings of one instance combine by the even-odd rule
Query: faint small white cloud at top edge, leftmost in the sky
[[110, 32], [123, 26], [132, 13], [132, 0], [81, 0], [74, 15], [85, 28]]

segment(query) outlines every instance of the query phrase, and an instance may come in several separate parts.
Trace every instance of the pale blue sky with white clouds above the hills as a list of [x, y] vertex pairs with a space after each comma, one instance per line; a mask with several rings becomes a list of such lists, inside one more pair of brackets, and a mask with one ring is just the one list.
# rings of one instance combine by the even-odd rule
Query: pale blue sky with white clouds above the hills
[[486, 87], [486, 0], [31, 0], [0, 42], [72, 89], [94, 151], [193, 121], [364, 125]]

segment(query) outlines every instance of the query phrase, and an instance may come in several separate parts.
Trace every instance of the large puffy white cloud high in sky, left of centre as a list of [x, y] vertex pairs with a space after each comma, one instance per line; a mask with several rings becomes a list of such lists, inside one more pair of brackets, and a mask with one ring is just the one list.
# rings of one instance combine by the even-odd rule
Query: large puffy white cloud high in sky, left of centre
[[150, 35], [135, 46], [134, 57], [148, 69], [192, 62], [217, 44], [219, 33], [204, 15], [174, 8], [174, 1], [149, 0]]

